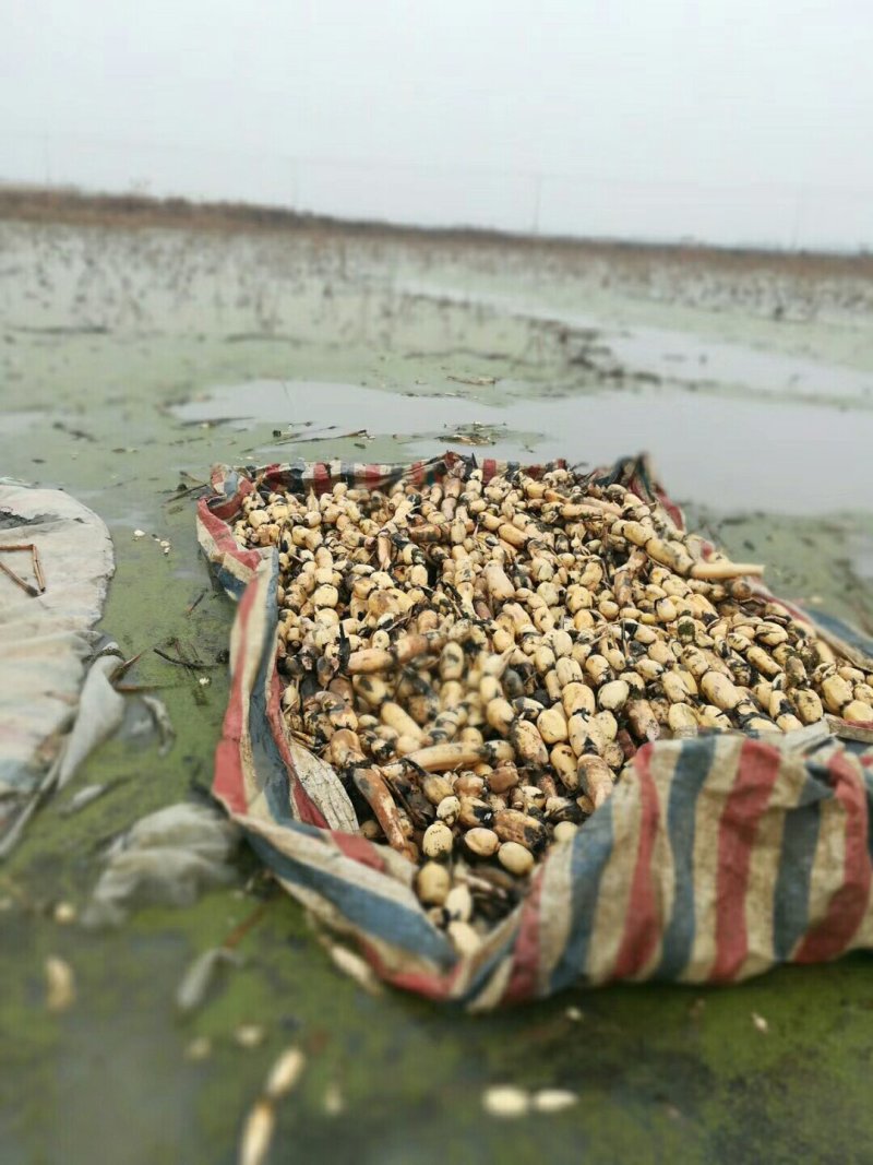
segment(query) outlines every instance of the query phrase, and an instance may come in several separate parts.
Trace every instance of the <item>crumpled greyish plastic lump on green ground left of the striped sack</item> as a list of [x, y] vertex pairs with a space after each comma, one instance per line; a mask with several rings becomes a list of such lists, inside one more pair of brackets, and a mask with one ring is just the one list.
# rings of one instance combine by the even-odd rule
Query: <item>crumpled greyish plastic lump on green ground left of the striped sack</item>
[[137, 906], [190, 906], [235, 878], [237, 827], [219, 810], [182, 803], [141, 818], [111, 848], [83, 924], [116, 926]]

